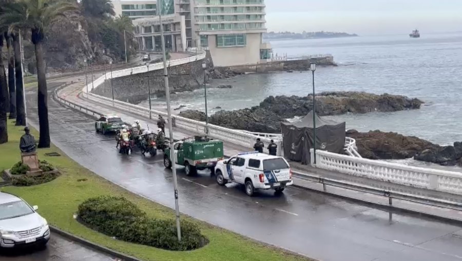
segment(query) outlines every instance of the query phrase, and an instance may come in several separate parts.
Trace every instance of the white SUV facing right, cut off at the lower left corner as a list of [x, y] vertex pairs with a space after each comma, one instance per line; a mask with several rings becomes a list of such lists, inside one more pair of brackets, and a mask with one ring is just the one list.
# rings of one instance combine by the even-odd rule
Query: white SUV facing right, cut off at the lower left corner
[[45, 246], [50, 239], [47, 221], [15, 195], [0, 192], [0, 247], [38, 244]]

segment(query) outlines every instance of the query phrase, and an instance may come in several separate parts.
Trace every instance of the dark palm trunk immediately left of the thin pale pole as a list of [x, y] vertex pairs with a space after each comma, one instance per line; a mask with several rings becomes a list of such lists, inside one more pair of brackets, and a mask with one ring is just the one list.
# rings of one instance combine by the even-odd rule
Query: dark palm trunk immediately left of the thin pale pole
[[14, 51], [14, 72], [16, 78], [16, 126], [26, 126], [26, 107], [24, 104], [23, 92], [23, 71], [21, 70], [21, 47], [19, 43], [19, 34], [14, 33], [13, 51]]

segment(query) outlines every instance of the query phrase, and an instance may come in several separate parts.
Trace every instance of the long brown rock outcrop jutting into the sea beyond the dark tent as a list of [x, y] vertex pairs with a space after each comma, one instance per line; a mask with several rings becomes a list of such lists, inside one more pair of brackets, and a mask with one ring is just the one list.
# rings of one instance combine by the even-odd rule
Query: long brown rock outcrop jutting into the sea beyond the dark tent
[[[364, 92], [323, 92], [316, 94], [315, 98], [316, 112], [320, 116], [412, 110], [424, 103], [401, 95]], [[260, 107], [283, 118], [304, 116], [313, 108], [313, 96], [269, 96], [260, 103]]]

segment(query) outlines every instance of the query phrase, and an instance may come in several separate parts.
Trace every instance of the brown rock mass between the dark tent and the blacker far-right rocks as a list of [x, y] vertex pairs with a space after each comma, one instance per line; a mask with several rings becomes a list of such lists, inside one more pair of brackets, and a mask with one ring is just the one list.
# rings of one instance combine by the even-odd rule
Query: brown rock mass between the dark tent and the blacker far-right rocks
[[360, 133], [355, 129], [347, 131], [347, 137], [356, 140], [358, 153], [367, 159], [408, 159], [426, 149], [435, 150], [438, 145], [412, 136], [373, 130]]

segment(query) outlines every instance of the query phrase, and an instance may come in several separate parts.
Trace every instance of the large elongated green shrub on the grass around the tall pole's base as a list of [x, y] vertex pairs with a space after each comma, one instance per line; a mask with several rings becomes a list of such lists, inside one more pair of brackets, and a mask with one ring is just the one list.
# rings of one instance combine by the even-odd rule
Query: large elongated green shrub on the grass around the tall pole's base
[[199, 228], [191, 222], [181, 223], [181, 242], [177, 239], [174, 220], [148, 217], [125, 198], [103, 196], [79, 205], [79, 218], [90, 228], [119, 240], [166, 250], [185, 251], [205, 245]]

